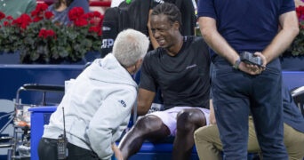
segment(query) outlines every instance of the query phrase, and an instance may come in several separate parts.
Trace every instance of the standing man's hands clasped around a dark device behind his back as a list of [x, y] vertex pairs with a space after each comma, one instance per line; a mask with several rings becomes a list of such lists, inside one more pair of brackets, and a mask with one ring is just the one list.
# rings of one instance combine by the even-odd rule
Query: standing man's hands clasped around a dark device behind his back
[[239, 65], [239, 69], [250, 75], [260, 75], [265, 70], [267, 61], [261, 52], [255, 52], [254, 55], [260, 57], [260, 59], [263, 61], [261, 67], [257, 65], [247, 64], [242, 61]]

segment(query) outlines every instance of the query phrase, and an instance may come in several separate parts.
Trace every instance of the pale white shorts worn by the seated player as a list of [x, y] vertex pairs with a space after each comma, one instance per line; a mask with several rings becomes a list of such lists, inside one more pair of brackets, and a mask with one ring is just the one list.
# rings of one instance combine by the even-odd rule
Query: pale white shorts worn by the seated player
[[[176, 135], [176, 116], [177, 114], [183, 110], [193, 107], [174, 107], [163, 111], [156, 111], [153, 113], [149, 113], [148, 115], [153, 115], [159, 117], [163, 123], [169, 128], [171, 135]], [[210, 110], [207, 108], [197, 108], [201, 110], [204, 113], [204, 116], [206, 118], [206, 125], [209, 125], [209, 116], [210, 116]]]

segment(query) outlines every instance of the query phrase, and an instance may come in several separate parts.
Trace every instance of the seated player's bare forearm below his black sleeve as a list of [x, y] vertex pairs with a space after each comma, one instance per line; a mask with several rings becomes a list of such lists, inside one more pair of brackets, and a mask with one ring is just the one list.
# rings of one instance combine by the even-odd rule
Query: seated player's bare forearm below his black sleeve
[[137, 98], [137, 113], [139, 116], [146, 115], [148, 113], [148, 109], [151, 108], [155, 96], [156, 92], [140, 88]]

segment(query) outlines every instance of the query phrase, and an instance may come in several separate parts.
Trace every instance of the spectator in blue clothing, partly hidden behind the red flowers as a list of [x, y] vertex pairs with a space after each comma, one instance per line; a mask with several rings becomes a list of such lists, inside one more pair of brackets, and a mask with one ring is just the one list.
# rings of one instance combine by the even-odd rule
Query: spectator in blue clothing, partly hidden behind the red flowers
[[84, 12], [90, 12], [90, 5], [87, 0], [57, 0], [49, 6], [48, 10], [54, 14], [53, 22], [68, 25], [70, 23], [68, 12], [74, 7], [82, 7]]

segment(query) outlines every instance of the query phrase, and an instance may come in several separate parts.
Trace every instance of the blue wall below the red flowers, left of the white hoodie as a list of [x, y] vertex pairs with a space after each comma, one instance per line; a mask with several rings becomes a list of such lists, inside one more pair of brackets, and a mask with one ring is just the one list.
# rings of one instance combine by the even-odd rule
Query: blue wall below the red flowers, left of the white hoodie
[[[12, 100], [23, 84], [59, 84], [76, 78], [84, 65], [0, 65], [0, 99]], [[58, 101], [62, 95], [47, 93], [47, 101]], [[40, 104], [41, 92], [21, 92], [22, 103]], [[54, 100], [53, 100], [54, 99]]]

